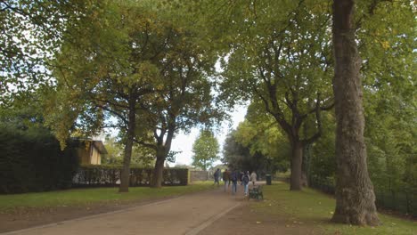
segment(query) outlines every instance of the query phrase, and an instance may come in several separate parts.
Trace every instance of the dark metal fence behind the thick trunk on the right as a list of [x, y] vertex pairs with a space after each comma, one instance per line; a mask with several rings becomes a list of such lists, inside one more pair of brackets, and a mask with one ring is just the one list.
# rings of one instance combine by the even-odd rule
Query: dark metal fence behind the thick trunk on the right
[[[309, 187], [334, 194], [335, 183], [331, 178], [310, 177]], [[417, 193], [412, 190], [382, 191], [375, 189], [376, 206], [417, 218]]]

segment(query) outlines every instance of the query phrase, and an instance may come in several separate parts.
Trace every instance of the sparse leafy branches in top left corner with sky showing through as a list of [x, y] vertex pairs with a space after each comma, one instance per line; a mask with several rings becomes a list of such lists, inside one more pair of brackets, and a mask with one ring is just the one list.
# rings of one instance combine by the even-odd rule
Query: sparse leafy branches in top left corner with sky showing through
[[74, 21], [94, 13], [94, 1], [0, 1], [0, 104], [53, 85], [46, 69]]

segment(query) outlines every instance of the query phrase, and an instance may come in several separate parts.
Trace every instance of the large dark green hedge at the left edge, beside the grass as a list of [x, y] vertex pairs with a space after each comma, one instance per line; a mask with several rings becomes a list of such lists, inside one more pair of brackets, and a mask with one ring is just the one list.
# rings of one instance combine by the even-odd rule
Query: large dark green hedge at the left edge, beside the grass
[[71, 187], [78, 167], [73, 149], [61, 151], [45, 128], [0, 131], [0, 193], [61, 190]]

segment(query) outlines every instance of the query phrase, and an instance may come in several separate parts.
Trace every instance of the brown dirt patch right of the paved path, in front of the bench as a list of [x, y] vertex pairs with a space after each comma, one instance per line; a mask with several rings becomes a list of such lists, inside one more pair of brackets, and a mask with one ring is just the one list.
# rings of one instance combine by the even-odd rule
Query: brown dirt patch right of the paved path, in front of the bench
[[[257, 202], [250, 202], [257, 203]], [[266, 215], [250, 208], [249, 203], [243, 204], [227, 213], [216, 222], [199, 233], [208, 234], [323, 234], [315, 226], [307, 223], [294, 223], [288, 218]]]

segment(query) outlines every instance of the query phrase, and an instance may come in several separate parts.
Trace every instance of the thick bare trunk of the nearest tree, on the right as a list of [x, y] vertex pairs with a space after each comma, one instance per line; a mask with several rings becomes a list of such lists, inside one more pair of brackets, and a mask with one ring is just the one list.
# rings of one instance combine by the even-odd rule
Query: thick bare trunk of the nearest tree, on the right
[[361, 61], [353, 27], [354, 7], [353, 0], [334, 0], [333, 4], [337, 177], [336, 209], [331, 220], [376, 225], [379, 219], [366, 165]]

